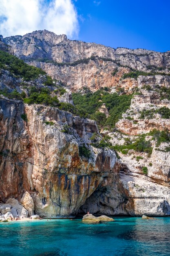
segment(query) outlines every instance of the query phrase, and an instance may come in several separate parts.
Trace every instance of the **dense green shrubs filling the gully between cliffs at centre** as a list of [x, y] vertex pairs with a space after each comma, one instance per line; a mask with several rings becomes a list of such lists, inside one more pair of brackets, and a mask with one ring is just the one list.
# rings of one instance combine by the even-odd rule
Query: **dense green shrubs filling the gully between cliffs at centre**
[[[126, 112], [129, 108], [131, 99], [132, 94], [110, 94], [102, 89], [94, 93], [89, 91], [84, 95], [81, 93], [73, 93], [75, 107], [79, 110], [84, 110], [86, 116], [94, 119], [100, 127], [108, 128], [113, 128], [115, 126], [116, 122], [121, 118], [122, 113]], [[103, 103], [105, 103], [108, 110], [108, 118], [106, 118], [104, 113], [99, 112], [99, 108]]]

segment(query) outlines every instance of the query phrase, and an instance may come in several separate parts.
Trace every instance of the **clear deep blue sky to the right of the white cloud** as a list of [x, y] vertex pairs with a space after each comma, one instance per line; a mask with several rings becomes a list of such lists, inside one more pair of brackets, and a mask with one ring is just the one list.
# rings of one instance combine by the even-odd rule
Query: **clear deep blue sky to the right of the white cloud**
[[170, 50], [170, 0], [77, 0], [80, 40]]

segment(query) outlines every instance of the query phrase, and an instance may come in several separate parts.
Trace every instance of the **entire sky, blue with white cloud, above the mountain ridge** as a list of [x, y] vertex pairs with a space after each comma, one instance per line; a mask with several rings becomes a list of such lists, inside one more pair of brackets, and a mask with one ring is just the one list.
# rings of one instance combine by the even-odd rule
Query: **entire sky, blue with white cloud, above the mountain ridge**
[[0, 34], [47, 29], [103, 45], [170, 50], [170, 0], [0, 0]]

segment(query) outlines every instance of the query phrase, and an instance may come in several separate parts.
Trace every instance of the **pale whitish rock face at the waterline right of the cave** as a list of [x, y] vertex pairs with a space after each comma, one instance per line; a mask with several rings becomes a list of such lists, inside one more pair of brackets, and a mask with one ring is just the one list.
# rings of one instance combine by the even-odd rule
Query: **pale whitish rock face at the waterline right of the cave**
[[144, 175], [122, 173], [120, 177], [131, 198], [126, 204], [131, 215], [170, 215], [170, 189], [167, 186], [155, 184]]

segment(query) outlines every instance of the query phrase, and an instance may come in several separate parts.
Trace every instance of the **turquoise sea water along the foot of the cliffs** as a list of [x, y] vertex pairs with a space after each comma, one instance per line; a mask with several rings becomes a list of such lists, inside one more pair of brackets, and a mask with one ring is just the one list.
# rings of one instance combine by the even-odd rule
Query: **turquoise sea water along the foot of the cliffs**
[[170, 256], [170, 217], [0, 223], [0, 256]]

